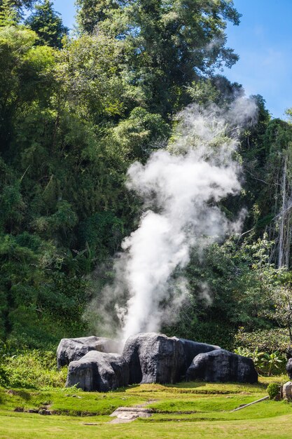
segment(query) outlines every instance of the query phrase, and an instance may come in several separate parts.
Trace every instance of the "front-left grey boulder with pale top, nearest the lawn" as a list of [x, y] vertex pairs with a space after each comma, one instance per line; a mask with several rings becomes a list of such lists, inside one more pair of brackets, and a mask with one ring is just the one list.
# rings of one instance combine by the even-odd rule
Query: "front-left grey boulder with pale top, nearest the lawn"
[[108, 392], [129, 383], [129, 367], [118, 353], [90, 351], [80, 360], [71, 361], [67, 387], [76, 385], [84, 391]]

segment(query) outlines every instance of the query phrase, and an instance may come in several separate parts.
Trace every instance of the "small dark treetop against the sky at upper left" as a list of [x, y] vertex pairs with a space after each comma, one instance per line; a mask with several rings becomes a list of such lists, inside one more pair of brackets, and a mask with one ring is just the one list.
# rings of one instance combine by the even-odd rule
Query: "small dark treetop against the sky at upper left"
[[39, 43], [61, 48], [62, 39], [69, 29], [63, 25], [62, 18], [53, 8], [53, 1], [43, 0], [35, 6], [35, 11], [25, 20], [25, 25], [39, 36]]

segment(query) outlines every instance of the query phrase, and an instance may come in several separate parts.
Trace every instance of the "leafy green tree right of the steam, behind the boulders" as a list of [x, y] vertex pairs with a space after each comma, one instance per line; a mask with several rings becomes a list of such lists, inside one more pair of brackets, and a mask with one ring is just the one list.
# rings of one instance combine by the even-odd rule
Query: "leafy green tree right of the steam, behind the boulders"
[[[235, 236], [203, 254], [194, 251], [186, 269], [188, 301], [167, 333], [231, 349], [237, 347], [232, 344], [240, 327], [247, 332], [284, 327], [288, 315], [278, 312], [282, 295], [277, 294], [290, 286], [285, 271], [269, 262], [272, 245], [266, 235], [244, 241]], [[285, 306], [283, 302], [281, 309]]]

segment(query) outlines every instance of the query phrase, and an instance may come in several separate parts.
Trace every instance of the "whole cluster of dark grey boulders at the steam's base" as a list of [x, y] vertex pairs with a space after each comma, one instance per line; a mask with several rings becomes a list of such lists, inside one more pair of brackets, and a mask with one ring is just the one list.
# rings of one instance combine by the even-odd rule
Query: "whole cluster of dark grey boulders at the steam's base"
[[254, 383], [258, 374], [250, 358], [211, 344], [144, 332], [119, 343], [99, 337], [63, 339], [57, 365], [69, 364], [67, 386], [111, 391], [127, 384], [174, 384], [182, 379]]

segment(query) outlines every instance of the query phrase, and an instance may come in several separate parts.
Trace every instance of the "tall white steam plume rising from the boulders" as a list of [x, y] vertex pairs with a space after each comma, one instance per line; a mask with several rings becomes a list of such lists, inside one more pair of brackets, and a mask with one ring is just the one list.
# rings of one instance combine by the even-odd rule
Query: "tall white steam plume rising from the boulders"
[[[224, 114], [215, 106], [188, 107], [177, 118], [169, 148], [155, 151], [144, 166], [130, 167], [127, 186], [143, 198], [145, 212], [139, 228], [123, 241], [115, 283], [106, 288], [107, 297], [128, 295], [126, 306], [116, 305], [122, 339], [175, 320], [172, 310], [188, 292], [178, 273], [191, 248], [202, 249], [239, 228], [240, 221], [230, 224], [217, 204], [241, 189], [238, 126], [255, 116], [256, 104], [244, 98]], [[207, 285], [203, 291], [209, 297]]]

